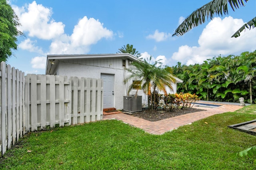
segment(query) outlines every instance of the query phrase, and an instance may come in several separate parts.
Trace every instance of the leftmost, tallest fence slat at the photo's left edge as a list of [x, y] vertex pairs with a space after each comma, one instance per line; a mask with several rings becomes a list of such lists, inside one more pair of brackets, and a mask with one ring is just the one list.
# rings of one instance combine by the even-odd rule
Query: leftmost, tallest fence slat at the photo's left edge
[[1, 99], [2, 99], [2, 116], [1, 116], [1, 141], [2, 141], [2, 155], [6, 152], [6, 64], [5, 62], [1, 63]]

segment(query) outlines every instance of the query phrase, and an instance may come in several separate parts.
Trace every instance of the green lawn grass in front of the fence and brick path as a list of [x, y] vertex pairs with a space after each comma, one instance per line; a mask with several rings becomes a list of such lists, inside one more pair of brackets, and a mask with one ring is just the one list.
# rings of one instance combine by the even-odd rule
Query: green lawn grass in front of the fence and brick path
[[255, 158], [223, 163], [229, 154], [256, 145], [256, 136], [227, 126], [253, 119], [256, 105], [163, 135], [116, 120], [32, 132], [0, 159], [0, 169], [256, 169]]

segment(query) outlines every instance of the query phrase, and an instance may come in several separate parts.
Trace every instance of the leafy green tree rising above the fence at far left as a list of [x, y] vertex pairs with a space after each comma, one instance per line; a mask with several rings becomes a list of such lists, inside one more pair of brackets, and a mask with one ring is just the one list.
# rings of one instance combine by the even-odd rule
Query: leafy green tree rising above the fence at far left
[[17, 27], [20, 26], [18, 16], [6, 0], [0, 0], [0, 62], [6, 61], [12, 50], [17, 49], [17, 36], [23, 35]]

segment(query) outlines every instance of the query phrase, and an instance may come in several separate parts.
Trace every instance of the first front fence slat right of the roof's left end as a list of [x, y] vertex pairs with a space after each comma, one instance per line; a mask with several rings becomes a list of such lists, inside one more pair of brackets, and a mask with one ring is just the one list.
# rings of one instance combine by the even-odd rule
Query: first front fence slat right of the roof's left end
[[55, 127], [55, 76], [50, 75], [50, 128]]

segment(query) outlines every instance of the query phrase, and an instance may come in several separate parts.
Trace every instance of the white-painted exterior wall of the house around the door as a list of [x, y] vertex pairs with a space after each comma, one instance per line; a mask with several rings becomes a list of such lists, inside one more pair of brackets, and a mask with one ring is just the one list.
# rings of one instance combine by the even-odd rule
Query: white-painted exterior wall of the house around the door
[[[129, 67], [127, 59], [125, 65]], [[114, 107], [120, 110], [123, 109], [123, 96], [127, 95], [129, 85], [132, 84], [131, 80], [124, 85], [124, 78], [127, 76], [127, 72], [124, 70], [122, 58], [59, 60], [54, 74], [96, 79], [100, 79], [101, 74], [114, 75]], [[169, 91], [168, 93], [176, 93], [176, 84], [173, 85], [173, 88], [174, 92]], [[130, 92], [131, 95], [135, 93], [136, 90]], [[138, 95], [142, 96], [142, 103], [148, 103], [148, 97], [142, 90], [138, 91]]]

